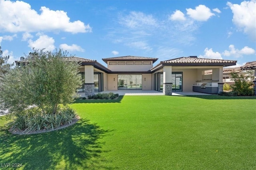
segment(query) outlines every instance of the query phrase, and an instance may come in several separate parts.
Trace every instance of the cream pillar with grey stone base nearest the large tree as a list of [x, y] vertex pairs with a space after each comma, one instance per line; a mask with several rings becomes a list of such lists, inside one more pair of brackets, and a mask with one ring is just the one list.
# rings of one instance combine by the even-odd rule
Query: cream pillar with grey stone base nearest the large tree
[[84, 66], [84, 92], [85, 96], [94, 95], [94, 67], [93, 66]]

